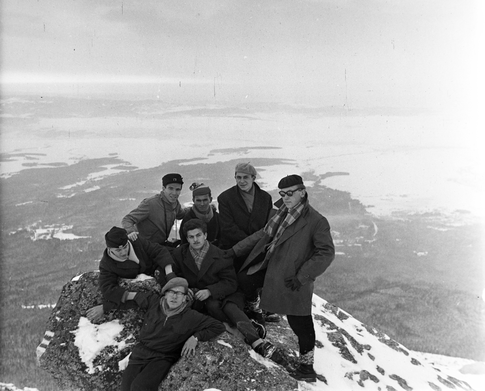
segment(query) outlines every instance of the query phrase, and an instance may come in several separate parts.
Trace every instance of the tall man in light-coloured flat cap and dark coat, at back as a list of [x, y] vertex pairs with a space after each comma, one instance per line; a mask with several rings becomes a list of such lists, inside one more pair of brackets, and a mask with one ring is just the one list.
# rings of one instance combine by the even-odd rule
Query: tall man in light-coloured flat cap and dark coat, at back
[[[217, 197], [222, 226], [220, 247], [224, 250], [263, 228], [273, 208], [271, 195], [255, 182], [257, 172], [253, 165], [238, 163], [234, 171], [236, 185]], [[236, 272], [244, 259], [234, 259]]]

